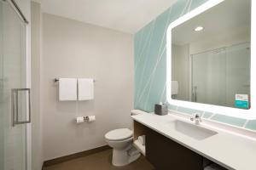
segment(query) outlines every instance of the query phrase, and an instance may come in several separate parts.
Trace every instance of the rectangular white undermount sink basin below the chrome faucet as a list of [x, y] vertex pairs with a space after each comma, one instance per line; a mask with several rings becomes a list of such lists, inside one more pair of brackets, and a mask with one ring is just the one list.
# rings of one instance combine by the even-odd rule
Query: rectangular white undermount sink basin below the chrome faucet
[[169, 122], [168, 124], [172, 124], [172, 127], [179, 133], [183, 133], [193, 139], [202, 140], [207, 139], [217, 132], [214, 132], [205, 127], [201, 127], [200, 125], [195, 125], [189, 122], [183, 122], [179, 120], [175, 120], [173, 122]]

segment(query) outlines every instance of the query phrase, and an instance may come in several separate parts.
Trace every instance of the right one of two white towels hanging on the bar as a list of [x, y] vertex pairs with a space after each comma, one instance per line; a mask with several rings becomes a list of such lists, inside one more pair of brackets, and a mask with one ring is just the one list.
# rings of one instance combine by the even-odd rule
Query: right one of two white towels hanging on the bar
[[79, 100], [94, 99], [93, 79], [79, 78]]

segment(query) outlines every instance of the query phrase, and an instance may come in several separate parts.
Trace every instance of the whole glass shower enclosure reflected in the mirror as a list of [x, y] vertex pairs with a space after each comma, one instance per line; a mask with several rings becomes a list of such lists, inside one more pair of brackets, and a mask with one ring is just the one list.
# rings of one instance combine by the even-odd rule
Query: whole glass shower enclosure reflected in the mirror
[[250, 43], [191, 55], [191, 101], [234, 107], [236, 94], [250, 96]]

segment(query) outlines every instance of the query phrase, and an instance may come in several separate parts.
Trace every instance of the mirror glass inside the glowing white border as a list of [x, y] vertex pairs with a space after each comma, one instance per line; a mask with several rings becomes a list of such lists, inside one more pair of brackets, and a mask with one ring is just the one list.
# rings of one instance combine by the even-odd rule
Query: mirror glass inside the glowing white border
[[250, 37], [250, 0], [225, 0], [174, 27], [172, 99], [248, 109]]

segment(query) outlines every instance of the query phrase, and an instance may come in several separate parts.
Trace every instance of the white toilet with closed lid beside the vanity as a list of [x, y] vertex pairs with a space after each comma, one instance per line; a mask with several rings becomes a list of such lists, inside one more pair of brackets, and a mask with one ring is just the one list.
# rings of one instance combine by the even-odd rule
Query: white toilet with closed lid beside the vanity
[[113, 148], [112, 164], [121, 167], [136, 161], [140, 157], [140, 152], [134, 148], [133, 133], [129, 128], [119, 128], [105, 134], [105, 139]]

